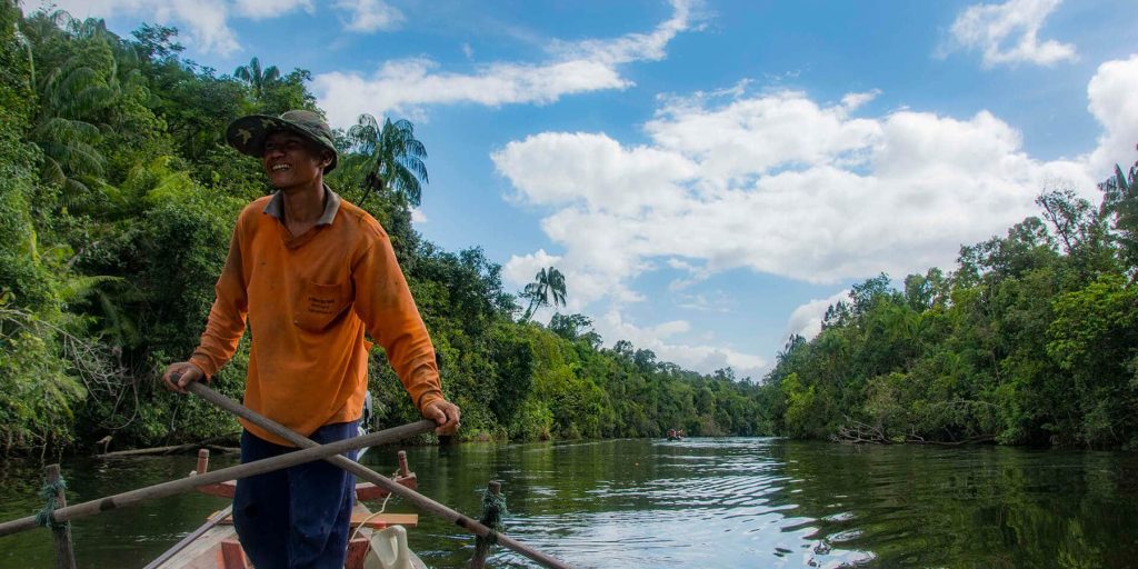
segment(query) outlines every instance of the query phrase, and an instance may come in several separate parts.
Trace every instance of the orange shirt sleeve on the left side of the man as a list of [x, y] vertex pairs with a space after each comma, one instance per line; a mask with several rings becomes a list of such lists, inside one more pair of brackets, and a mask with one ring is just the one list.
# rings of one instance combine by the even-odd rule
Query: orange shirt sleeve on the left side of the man
[[237, 344], [245, 333], [245, 318], [249, 312], [241, 251], [241, 223], [233, 230], [229, 256], [215, 287], [217, 297], [209, 308], [209, 320], [201, 341], [190, 363], [201, 368], [212, 378], [237, 352]]

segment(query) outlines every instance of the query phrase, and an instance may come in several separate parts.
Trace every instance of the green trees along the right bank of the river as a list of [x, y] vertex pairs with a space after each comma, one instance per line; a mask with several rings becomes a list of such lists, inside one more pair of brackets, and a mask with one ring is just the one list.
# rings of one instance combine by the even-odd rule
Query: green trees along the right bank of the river
[[1044, 192], [959, 265], [855, 284], [765, 381], [775, 430], [857, 442], [1138, 448], [1138, 292], [1129, 179], [1096, 211]]

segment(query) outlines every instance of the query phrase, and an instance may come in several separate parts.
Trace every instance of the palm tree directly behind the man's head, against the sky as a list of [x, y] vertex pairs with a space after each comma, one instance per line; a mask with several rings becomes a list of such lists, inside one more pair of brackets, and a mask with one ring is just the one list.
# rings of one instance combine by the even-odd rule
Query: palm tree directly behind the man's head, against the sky
[[382, 196], [394, 191], [407, 204], [419, 206], [422, 184], [429, 183], [423, 164], [427, 147], [415, 138], [415, 127], [410, 121], [401, 118], [393, 123], [386, 118], [380, 127], [376, 117], [364, 113], [348, 129], [348, 140], [353, 150], [362, 155], [366, 172], [360, 205], [372, 192]]

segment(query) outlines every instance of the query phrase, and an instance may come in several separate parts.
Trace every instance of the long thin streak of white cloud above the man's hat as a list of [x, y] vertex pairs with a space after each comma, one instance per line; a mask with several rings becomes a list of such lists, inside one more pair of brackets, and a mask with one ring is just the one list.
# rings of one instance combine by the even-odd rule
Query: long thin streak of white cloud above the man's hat
[[332, 124], [347, 125], [361, 113], [414, 114], [426, 105], [472, 102], [498, 106], [549, 104], [572, 94], [625, 89], [632, 81], [618, 67], [663, 57], [665, 47], [690, 27], [690, 1], [674, 0], [674, 14], [651, 33], [612, 40], [554, 42], [551, 59], [539, 64], [493, 63], [473, 73], [440, 71], [427, 58], [386, 61], [369, 76], [355, 72], [319, 74], [313, 90]]

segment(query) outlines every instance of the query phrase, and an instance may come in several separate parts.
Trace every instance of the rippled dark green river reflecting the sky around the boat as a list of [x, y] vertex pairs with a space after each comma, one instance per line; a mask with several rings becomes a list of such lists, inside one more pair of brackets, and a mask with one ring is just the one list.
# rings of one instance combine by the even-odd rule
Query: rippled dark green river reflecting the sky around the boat
[[[420, 492], [471, 517], [502, 481], [506, 531], [577, 567], [1133, 567], [1138, 455], [772, 438], [411, 447]], [[215, 468], [233, 462], [218, 456]], [[364, 463], [395, 470], [395, 450]], [[64, 463], [68, 501], [185, 476], [193, 456]], [[0, 519], [42, 506], [38, 462], [0, 464]], [[139, 568], [225, 505], [198, 494], [79, 520], [83, 568]], [[393, 501], [391, 512], [414, 509]], [[411, 546], [464, 567], [473, 539], [420, 514]], [[55, 567], [50, 536], [0, 537], [0, 567]], [[496, 550], [489, 567], [536, 567]]]

